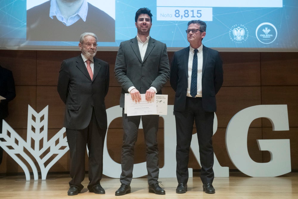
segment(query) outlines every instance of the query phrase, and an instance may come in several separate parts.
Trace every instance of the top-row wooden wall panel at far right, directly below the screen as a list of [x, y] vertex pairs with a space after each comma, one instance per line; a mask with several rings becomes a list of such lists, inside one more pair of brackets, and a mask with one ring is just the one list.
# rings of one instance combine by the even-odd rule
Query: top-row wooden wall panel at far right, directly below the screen
[[298, 85], [297, 53], [261, 53], [262, 85]]

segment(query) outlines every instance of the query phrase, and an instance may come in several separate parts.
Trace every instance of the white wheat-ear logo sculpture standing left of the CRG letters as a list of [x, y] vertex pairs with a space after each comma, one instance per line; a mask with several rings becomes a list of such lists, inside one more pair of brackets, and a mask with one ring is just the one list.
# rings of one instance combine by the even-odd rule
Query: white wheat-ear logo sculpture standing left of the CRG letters
[[[33, 117], [35, 121], [33, 120]], [[30, 180], [30, 172], [22, 159], [27, 161], [33, 171], [34, 180], [38, 180], [38, 170], [34, 161], [25, 152], [29, 152], [37, 161], [41, 170], [41, 179], [45, 180], [49, 169], [69, 150], [65, 128], [48, 140], [48, 106], [37, 113], [28, 105], [27, 141], [24, 141], [13, 128], [3, 120], [0, 146], [24, 170], [26, 180]], [[57, 154], [57, 155], [56, 155]], [[45, 163], [56, 155], [46, 166]], [[22, 159], [19, 158], [22, 157]]]

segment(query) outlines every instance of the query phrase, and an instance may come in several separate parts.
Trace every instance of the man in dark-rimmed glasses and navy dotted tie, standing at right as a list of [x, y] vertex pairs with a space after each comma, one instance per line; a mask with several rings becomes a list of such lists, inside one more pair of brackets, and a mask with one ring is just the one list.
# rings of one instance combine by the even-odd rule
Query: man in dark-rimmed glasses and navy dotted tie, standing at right
[[215, 193], [213, 172], [213, 119], [216, 111], [215, 94], [223, 84], [222, 61], [218, 51], [205, 47], [206, 23], [188, 22], [187, 40], [190, 46], [174, 53], [170, 84], [175, 90], [176, 120], [176, 193], [187, 191], [190, 143], [195, 121], [198, 136], [203, 191]]

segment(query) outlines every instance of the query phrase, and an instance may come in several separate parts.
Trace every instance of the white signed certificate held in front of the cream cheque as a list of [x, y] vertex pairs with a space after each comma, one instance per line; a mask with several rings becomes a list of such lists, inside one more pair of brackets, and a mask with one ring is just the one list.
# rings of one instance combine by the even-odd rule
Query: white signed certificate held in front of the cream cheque
[[134, 102], [131, 99], [131, 95], [129, 93], [125, 94], [125, 109], [127, 116], [134, 116], [134, 115], [156, 115], [157, 108], [156, 108], [156, 101], [155, 96], [151, 101], [146, 101], [145, 94], [141, 94], [141, 101]]

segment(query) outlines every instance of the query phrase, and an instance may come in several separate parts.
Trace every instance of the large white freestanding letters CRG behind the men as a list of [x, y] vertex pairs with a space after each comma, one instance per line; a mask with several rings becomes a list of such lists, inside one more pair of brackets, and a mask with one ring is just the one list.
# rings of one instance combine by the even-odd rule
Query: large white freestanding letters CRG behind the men
[[[164, 166], [159, 170], [159, 178], [176, 178], [176, 125], [172, 114], [173, 105], [168, 105], [164, 119]], [[115, 118], [122, 117], [122, 108], [114, 106], [107, 109], [108, 126]], [[268, 118], [273, 131], [289, 130], [287, 105], [257, 105], [245, 108], [236, 113], [226, 128], [226, 149], [235, 167], [252, 177], [275, 177], [291, 172], [291, 154], [289, 139], [257, 140], [261, 151], [269, 151], [271, 160], [266, 163], [253, 161], [247, 149], [247, 134], [250, 124], [257, 118]], [[140, 124], [142, 129], [142, 123]], [[217, 117], [214, 117], [213, 135], [217, 130]], [[107, 139], [107, 137], [106, 137]], [[103, 153], [103, 174], [111, 178], [119, 178], [121, 164], [109, 155], [105, 139]], [[199, 146], [196, 135], [193, 135], [190, 148], [200, 164]], [[222, 167], [214, 154], [215, 177], [229, 177], [229, 167]], [[147, 175], [146, 162], [134, 164], [133, 176], [138, 178]], [[189, 168], [189, 177], [193, 177], [193, 169]]]

